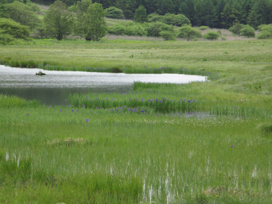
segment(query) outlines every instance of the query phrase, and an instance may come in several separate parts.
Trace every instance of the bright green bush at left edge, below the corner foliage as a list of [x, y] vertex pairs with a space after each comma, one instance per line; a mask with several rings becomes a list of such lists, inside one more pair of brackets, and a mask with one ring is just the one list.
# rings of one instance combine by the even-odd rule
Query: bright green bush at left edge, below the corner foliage
[[[0, 30], [2, 34], [8, 34], [14, 38], [21, 39], [28, 39], [30, 34], [30, 30], [27, 26], [7, 18], [0, 18]], [[5, 38], [8, 40], [9, 37], [5, 36]]]

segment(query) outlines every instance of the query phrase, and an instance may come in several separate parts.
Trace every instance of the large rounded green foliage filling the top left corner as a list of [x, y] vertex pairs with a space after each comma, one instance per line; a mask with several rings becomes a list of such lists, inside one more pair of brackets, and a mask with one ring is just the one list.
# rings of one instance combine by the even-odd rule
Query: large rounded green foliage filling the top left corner
[[36, 27], [39, 22], [37, 15], [30, 6], [17, 1], [0, 7], [0, 16], [10, 18], [22, 25], [27, 25], [31, 29]]

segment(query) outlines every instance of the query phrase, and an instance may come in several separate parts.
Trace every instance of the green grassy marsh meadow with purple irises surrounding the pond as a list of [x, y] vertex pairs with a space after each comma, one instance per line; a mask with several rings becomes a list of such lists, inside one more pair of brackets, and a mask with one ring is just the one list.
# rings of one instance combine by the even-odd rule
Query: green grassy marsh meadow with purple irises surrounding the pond
[[272, 40], [34, 40], [0, 62], [206, 75], [74, 94], [0, 95], [0, 203], [271, 203]]

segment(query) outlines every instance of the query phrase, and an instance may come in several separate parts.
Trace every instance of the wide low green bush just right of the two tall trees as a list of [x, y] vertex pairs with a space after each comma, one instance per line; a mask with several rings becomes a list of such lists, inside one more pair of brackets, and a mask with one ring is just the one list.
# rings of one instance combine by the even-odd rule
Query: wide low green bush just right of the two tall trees
[[128, 22], [115, 24], [112, 27], [109, 27], [109, 34], [114, 35], [134, 35], [134, 36], [146, 36], [147, 32], [143, 24]]

